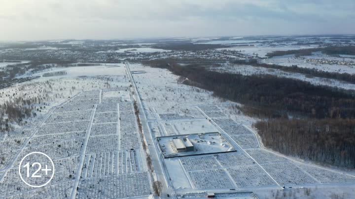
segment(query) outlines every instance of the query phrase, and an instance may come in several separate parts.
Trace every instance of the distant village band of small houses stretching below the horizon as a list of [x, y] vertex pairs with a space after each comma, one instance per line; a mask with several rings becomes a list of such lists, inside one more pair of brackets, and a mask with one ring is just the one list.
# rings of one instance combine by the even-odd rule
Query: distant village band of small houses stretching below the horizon
[[[139, 48], [137, 48], [139, 49]], [[159, 49], [158, 49], [159, 50]], [[234, 50], [200, 50], [200, 51], [166, 51], [145, 53], [139, 51], [118, 52], [92, 52], [71, 51], [71, 50], [51, 50], [51, 51], [26, 51], [13, 49], [11, 51], [1, 52], [0, 59], [7, 60], [37, 60], [37, 59], [60, 59], [60, 60], [90, 60], [93, 62], [120, 62], [120, 61], [140, 61], [161, 58], [174, 59], [204, 59], [204, 60], [236, 60], [250, 59], [256, 56], [244, 55]]]

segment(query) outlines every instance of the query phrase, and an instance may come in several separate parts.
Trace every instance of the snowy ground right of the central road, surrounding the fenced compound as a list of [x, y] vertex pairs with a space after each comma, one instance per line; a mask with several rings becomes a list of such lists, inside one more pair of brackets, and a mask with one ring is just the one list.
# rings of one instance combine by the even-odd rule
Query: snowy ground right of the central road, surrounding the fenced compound
[[[177, 194], [232, 189], [253, 191], [265, 198], [281, 192], [283, 186], [298, 192], [308, 187], [313, 194], [321, 191], [316, 187], [327, 186], [332, 187], [334, 195], [340, 193], [342, 186], [355, 187], [352, 172], [320, 167], [265, 149], [250, 128], [253, 119], [232, 111], [235, 103], [199, 88], [179, 85], [178, 77], [167, 70], [140, 64], [130, 64], [130, 68], [146, 72], [133, 77], [152, 136], [178, 135], [181, 130], [184, 134], [202, 131], [200, 122], [207, 122], [237, 150], [162, 160]], [[344, 193], [354, 194], [350, 189], [344, 189]]]

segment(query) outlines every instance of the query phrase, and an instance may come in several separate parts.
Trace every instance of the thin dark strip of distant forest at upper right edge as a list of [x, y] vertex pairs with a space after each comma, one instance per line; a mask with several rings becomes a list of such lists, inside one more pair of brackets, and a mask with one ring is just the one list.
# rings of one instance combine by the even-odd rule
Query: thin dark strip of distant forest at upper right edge
[[324, 48], [310, 48], [289, 51], [275, 51], [267, 53], [267, 57], [295, 55], [295, 56], [310, 56], [313, 52], [321, 51], [327, 55], [355, 55], [355, 46], [327, 46]]

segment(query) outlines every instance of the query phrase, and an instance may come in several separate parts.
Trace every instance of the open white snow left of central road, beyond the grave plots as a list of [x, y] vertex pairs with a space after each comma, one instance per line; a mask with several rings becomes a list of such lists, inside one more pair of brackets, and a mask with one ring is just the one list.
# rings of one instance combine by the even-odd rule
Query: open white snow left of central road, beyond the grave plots
[[56, 71], [66, 71], [67, 75], [42, 77], [1, 89], [3, 94], [0, 95], [0, 103], [12, 101], [18, 97], [23, 99], [39, 98], [42, 101], [42, 105], [35, 104], [35, 106], [43, 107], [44, 105], [46, 108], [41, 110], [41, 113], [46, 113], [51, 107], [64, 102], [81, 91], [129, 85], [124, 67], [83, 66], [53, 68], [21, 77], [41, 76], [44, 73]]

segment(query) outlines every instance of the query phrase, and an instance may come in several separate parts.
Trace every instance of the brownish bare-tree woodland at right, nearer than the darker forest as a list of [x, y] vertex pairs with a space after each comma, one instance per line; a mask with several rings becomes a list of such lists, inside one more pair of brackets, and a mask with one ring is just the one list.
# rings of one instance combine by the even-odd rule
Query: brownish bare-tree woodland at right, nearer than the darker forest
[[355, 168], [355, 119], [271, 119], [254, 125], [264, 145], [276, 151]]

